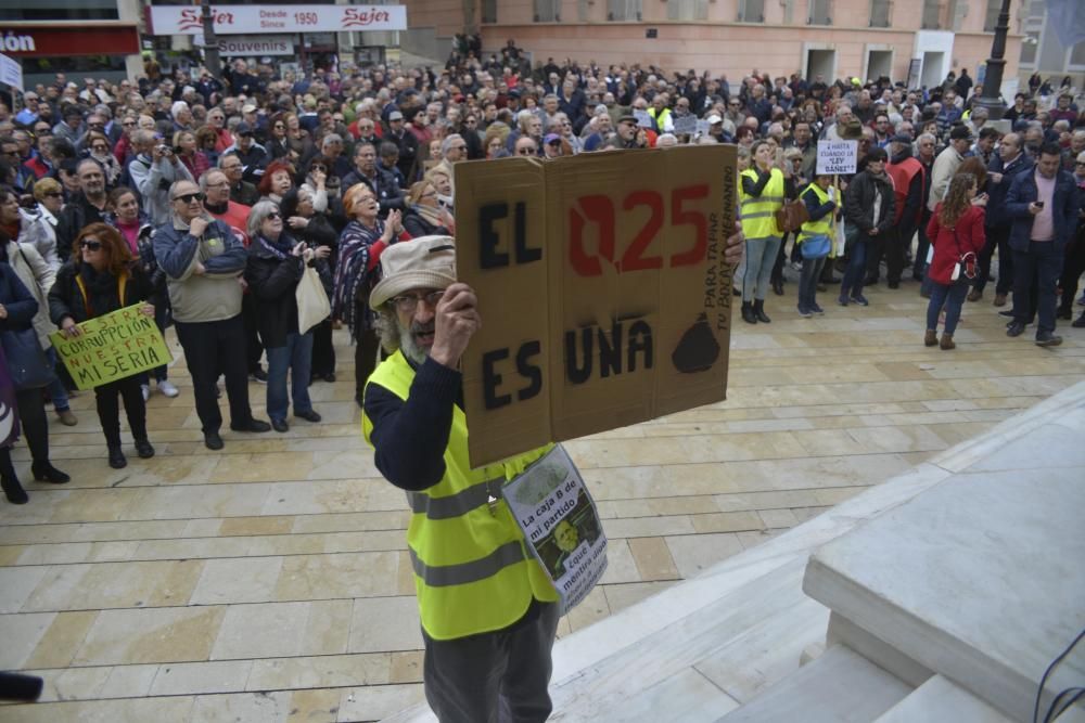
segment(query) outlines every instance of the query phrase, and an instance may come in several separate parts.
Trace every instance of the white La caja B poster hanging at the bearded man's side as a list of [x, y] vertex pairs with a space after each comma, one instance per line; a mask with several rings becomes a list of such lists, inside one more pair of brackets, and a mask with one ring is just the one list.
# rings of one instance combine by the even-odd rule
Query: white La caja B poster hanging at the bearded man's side
[[524, 540], [561, 596], [561, 615], [576, 607], [607, 570], [607, 535], [596, 503], [569, 454], [556, 444], [502, 496]]

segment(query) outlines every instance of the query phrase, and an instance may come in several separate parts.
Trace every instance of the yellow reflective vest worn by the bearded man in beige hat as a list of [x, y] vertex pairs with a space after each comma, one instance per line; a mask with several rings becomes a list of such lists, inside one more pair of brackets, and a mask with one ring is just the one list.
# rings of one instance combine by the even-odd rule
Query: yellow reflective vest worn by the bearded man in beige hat
[[[366, 383], [407, 400], [414, 370], [396, 351], [378, 365]], [[372, 443], [373, 424], [362, 410], [362, 432]], [[525, 452], [503, 463], [472, 469], [468, 462], [468, 426], [463, 410], [452, 411], [445, 449], [445, 476], [421, 492], [407, 492], [413, 513], [407, 547], [414, 568], [418, 610], [426, 634], [438, 641], [493, 632], [520, 620], [532, 598], [558, 601], [546, 571], [532, 556], [524, 535], [499, 500], [506, 480], [521, 474], [552, 446]]]

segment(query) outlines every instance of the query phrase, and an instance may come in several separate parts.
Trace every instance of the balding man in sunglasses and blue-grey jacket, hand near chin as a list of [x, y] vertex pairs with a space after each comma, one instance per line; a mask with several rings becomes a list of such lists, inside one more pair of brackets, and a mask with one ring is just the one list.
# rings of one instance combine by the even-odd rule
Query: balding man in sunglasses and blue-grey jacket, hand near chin
[[170, 221], [155, 232], [154, 256], [166, 272], [174, 325], [192, 375], [204, 444], [220, 450], [222, 414], [216, 385], [220, 374], [226, 377], [230, 428], [255, 432], [271, 429], [268, 423], [253, 417], [248, 405], [239, 280], [248, 257], [229, 227], [204, 209], [204, 196], [195, 183], [175, 182], [169, 198]]

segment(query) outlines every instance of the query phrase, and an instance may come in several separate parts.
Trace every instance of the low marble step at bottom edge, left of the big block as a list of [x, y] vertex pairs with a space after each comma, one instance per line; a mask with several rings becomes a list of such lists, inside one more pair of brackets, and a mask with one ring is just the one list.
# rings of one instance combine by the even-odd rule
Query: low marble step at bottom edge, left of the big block
[[859, 654], [834, 645], [719, 723], [870, 723], [911, 692]]

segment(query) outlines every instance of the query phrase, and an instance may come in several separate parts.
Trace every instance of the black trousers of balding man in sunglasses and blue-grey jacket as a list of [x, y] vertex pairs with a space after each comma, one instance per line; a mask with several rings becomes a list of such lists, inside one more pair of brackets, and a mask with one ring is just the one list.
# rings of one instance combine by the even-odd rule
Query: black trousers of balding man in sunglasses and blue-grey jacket
[[253, 418], [248, 406], [248, 371], [245, 369], [245, 325], [241, 314], [222, 321], [187, 323], [175, 321], [177, 338], [192, 375], [196, 414], [203, 430], [218, 431], [222, 413], [218, 409], [218, 375], [226, 377], [230, 399], [230, 424], [243, 425]]

